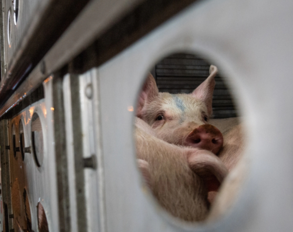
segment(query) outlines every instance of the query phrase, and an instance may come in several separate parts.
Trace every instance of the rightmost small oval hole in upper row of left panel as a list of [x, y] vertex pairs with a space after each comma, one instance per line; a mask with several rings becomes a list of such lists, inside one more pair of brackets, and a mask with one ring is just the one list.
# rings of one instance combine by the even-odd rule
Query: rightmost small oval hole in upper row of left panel
[[31, 141], [35, 162], [40, 167], [43, 164], [44, 158], [44, 141], [41, 120], [37, 113], [34, 113], [32, 116]]

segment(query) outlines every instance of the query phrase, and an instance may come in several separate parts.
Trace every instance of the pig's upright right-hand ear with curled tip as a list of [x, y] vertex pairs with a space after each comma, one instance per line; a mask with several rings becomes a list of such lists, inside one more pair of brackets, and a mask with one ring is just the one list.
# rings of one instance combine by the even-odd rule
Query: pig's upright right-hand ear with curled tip
[[202, 82], [193, 92], [192, 95], [196, 98], [201, 99], [208, 108], [208, 114], [212, 114], [212, 100], [213, 100], [213, 92], [215, 88], [215, 77], [218, 73], [218, 69], [216, 66], [211, 65], [210, 67], [210, 76]]

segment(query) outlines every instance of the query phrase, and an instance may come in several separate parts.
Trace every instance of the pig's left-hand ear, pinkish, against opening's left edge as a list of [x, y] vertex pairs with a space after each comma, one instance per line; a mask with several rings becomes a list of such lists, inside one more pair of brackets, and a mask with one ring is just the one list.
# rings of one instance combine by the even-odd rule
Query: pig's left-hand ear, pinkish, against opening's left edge
[[159, 94], [159, 90], [156, 86], [155, 79], [149, 73], [147, 76], [147, 80], [143, 85], [142, 91], [139, 95], [139, 101], [137, 105], [137, 117], [142, 117], [142, 110], [146, 103], [154, 100]]

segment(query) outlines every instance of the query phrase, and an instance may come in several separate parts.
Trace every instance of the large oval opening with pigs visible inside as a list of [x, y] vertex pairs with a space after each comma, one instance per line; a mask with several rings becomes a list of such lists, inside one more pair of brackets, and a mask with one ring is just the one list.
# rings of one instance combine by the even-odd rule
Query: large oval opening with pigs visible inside
[[229, 186], [222, 185], [243, 154], [241, 117], [226, 80], [202, 57], [177, 53], [149, 71], [139, 93], [135, 140], [143, 181], [165, 211], [185, 222], [218, 218], [238, 193], [225, 202]]

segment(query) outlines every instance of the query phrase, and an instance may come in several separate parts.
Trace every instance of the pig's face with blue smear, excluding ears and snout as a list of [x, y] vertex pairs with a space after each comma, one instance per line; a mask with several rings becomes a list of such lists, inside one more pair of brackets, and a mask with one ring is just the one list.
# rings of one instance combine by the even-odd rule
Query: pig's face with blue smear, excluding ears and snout
[[191, 131], [207, 123], [208, 110], [191, 94], [159, 93], [146, 106], [143, 120], [166, 142], [183, 145]]

